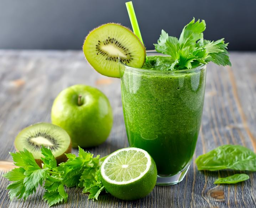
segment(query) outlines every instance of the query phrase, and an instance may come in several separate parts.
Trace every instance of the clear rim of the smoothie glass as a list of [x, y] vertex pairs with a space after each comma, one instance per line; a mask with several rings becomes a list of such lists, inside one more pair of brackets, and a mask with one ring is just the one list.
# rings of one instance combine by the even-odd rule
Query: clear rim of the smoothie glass
[[[146, 50], [146, 54], [159, 54], [161, 56], [168, 56], [165, 54], [161, 54], [158, 53], [156, 50]], [[121, 60], [119, 60], [119, 63], [122, 64], [126, 69], [129, 69], [130, 71], [134, 71], [134, 72], [143, 72], [143, 73], [159, 73], [159, 74], [175, 74], [175, 73], [190, 73], [190, 72], [195, 72], [195, 71], [200, 71], [202, 69], [204, 69], [204, 67], [206, 67], [207, 64], [201, 64], [200, 66], [197, 66], [195, 68], [192, 69], [182, 69], [182, 70], [174, 70], [174, 71], [163, 71], [163, 70], [152, 70], [152, 69], [141, 69], [141, 68], [136, 68], [136, 67], [132, 67], [132, 66], [128, 66], [126, 64], [124, 64]]]

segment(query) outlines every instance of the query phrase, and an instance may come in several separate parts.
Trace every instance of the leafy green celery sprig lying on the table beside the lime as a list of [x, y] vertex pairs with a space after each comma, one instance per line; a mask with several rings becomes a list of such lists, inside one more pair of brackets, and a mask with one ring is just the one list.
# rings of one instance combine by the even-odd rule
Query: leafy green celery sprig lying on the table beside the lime
[[66, 154], [67, 162], [57, 166], [51, 150], [42, 146], [43, 168], [37, 165], [32, 153], [26, 149], [10, 154], [14, 164], [19, 166], [3, 175], [9, 181], [14, 181], [6, 187], [10, 199], [16, 197], [26, 200], [36, 192], [39, 185], [45, 189], [43, 199], [47, 201], [49, 207], [67, 202], [65, 186], [82, 187], [84, 193], [89, 193], [88, 199], [93, 200], [97, 200], [99, 194], [106, 191], [99, 172], [100, 156], [93, 157], [93, 154], [85, 152], [80, 147], [78, 157], [75, 154]]

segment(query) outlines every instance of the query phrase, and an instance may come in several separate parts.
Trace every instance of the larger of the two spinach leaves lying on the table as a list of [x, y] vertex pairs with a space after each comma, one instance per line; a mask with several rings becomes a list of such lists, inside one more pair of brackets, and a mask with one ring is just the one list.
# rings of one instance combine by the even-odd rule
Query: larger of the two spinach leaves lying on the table
[[256, 171], [256, 154], [240, 145], [223, 145], [200, 155], [195, 160], [198, 170], [250, 170]]

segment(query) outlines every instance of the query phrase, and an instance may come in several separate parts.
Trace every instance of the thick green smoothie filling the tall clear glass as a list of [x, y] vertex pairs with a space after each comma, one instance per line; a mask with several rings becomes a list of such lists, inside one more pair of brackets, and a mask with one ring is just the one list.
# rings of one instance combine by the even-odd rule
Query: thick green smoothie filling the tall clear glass
[[149, 56], [143, 69], [121, 69], [129, 144], [145, 149], [155, 160], [160, 175], [175, 175], [189, 165], [205, 92], [205, 65], [167, 71], [170, 62], [164, 56]]

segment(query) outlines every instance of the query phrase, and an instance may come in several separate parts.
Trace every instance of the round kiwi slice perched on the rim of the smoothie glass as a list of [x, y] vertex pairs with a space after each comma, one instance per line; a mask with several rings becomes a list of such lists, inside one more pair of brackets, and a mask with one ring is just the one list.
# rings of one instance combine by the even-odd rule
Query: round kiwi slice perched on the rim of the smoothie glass
[[120, 77], [119, 59], [124, 64], [141, 68], [146, 49], [138, 37], [116, 23], [103, 24], [93, 29], [83, 44], [83, 53], [89, 64], [108, 77]]

